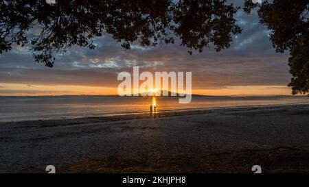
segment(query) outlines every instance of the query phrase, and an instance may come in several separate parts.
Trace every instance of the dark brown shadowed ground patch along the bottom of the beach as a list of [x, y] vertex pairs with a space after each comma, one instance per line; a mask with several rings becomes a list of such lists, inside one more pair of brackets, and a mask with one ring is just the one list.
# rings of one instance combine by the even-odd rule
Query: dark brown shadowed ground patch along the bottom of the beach
[[309, 150], [278, 147], [241, 151], [200, 151], [179, 154], [113, 155], [61, 166], [69, 173], [309, 173]]

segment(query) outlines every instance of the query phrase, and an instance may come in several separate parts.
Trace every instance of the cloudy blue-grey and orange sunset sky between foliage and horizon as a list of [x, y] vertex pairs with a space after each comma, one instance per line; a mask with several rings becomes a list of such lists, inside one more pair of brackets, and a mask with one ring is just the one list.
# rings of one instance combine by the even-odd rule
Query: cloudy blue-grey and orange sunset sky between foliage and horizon
[[110, 35], [95, 40], [96, 48], [72, 47], [57, 55], [54, 68], [34, 62], [30, 51], [13, 46], [0, 55], [0, 95], [116, 95], [117, 73], [191, 71], [192, 92], [201, 95], [290, 95], [288, 53], [276, 53], [270, 33], [256, 14], [236, 14], [242, 34], [229, 49], [187, 53], [173, 45], [121, 47]]

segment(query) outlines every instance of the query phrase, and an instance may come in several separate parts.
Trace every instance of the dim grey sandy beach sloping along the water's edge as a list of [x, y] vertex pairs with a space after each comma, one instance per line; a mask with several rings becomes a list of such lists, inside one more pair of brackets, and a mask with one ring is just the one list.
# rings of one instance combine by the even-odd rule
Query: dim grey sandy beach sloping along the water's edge
[[0, 123], [0, 173], [309, 171], [309, 105]]

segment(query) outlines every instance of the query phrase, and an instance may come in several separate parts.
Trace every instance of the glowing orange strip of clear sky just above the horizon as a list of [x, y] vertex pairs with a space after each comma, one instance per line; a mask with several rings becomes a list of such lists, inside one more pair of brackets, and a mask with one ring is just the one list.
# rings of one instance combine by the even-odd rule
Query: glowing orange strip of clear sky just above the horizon
[[[157, 92], [160, 89], [140, 90]], [[176, 92], [176, 90], [170, 90]], [[288, 86], [229, 86], [225, 88], [198, 89], [192, 94], [211, 96], [268, 96], [291, 95]], [[74, 85], [30, 85], [0, 84], [0, 96], [42, 96], [42, 95], [117, 95], [117, 88]]]

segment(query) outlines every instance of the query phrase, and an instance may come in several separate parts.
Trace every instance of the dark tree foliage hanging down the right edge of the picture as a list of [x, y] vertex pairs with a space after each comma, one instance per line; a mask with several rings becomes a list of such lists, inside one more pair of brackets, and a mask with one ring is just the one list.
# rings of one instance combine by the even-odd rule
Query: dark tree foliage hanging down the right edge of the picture
[[288, 60], [293, 95], [309, 90], [309, 1], [273, 0], [258, 5], [246, 1], [244, 11], [258, 8], [260, 22], [271, 31], [270, 40], [276, 51], [290, 51]]

